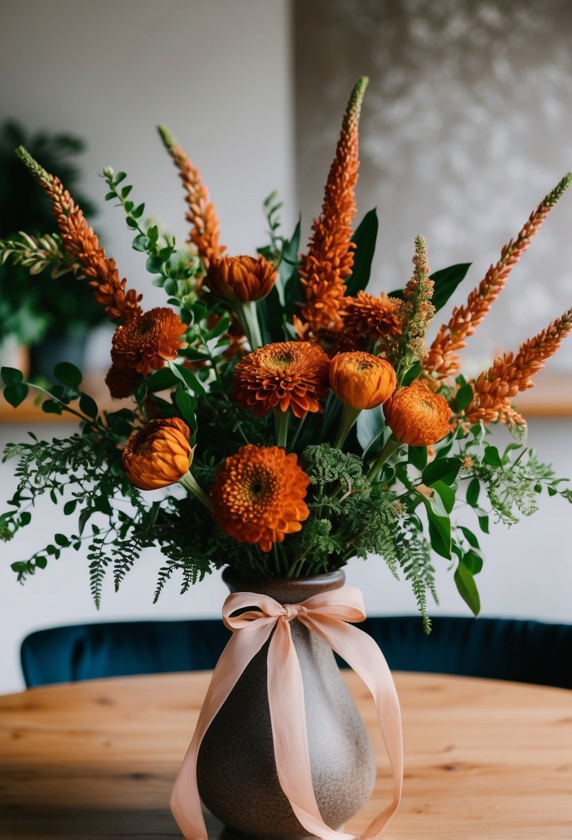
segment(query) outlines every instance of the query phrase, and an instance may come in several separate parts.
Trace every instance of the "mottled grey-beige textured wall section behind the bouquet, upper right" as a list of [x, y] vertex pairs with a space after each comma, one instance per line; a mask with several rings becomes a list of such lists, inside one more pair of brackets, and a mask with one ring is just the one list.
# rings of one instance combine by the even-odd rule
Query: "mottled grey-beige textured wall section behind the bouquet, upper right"
[[[375, 287], [403, 286], [413, 237], [433, 269], [472, 262], [465, 300], [502, 244], [572, 169], [569, 0], [296, 0], [298, 186], [320, 209], [346, 98], [361, 117], [358, 218], [377, 205]], [[572, 305], [572, 191], [466, 353], [517, 348]], [[572, 339], [550, 362], [572, 369]]]

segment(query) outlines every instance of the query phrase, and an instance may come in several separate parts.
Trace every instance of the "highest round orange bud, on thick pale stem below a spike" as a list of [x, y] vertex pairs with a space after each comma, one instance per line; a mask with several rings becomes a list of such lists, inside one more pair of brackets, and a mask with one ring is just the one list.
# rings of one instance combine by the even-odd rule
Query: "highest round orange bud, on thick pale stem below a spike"
[[226, 301], [260, 301], [272, 290], [278, 272], [264, 257], [221, 257], [211, 260], [206, 285]]

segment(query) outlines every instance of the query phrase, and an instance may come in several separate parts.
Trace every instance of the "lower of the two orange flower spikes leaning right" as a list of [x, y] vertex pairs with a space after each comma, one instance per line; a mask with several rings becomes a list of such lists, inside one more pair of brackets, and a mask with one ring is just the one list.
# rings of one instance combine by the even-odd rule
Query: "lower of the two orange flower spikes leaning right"
[[475, 396], [467, 407], [468, 423], [511, 422], [510, 400], [518, 391], [533, 387], [532, 377], [542, 370], [544, 363], [559, 349], [562, 339], [572, 330], [572, 308], [553, 321], [533, 339], [523, 342], [518, 353], [506, 353], [495, 360], [489, 370], [481, 373], [472, 383]]

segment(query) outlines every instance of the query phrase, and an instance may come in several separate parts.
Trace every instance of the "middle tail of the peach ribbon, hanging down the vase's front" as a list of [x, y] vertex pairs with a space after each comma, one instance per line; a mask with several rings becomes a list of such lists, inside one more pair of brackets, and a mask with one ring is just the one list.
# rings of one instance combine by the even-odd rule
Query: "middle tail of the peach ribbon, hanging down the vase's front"
[[309, 766], [304, 684], [289, 622], [278, 621], [268, 648], [268, 706], [278, 781], [299, 822], [322, 840], [353, 840], [325, 825]]

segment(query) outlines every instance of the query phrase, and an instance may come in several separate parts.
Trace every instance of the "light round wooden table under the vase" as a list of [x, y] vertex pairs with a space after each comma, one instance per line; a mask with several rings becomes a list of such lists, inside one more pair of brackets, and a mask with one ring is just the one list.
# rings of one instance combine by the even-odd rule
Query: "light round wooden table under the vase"
[[[387, 802], [387, 759], [367, 690], [346, 672], [376, 748], [373, 800]], [[164, 840], [174, 776], [210, 675], [93, 680], [0, 697], [0, 837]], [[403, 803], [383, 835], [439, 840], [572, 838], [572, 692], [397, 674]], [[209, 822], [210, 836], [220, 825]]]

